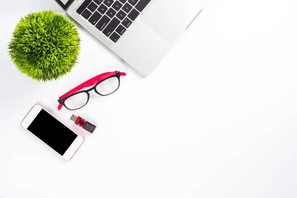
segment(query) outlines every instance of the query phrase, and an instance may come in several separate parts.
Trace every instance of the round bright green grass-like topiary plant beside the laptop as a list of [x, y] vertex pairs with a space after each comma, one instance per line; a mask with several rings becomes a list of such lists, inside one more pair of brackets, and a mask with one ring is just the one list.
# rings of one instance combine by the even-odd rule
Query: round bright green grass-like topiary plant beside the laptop
[[8, 49], [21, 73], [45, 82], [71, 71], [80, 51], [80, 38], [66, 16], [41, 11], [21, 18]]

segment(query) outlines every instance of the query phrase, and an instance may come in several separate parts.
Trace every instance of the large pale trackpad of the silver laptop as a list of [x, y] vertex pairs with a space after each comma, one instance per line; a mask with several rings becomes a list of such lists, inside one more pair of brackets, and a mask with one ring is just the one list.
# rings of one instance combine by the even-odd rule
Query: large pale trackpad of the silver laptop
[[169, 43], [179, 37], [205, 0], [154, 0], [140, 17]]

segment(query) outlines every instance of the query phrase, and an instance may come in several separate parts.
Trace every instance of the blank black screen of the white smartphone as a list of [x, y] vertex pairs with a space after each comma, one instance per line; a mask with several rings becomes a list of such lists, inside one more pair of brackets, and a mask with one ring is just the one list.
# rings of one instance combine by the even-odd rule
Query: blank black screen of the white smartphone
[[27, 129], [60, 155], [66, 152], [78, 136], [44, 109]]

